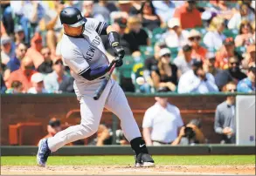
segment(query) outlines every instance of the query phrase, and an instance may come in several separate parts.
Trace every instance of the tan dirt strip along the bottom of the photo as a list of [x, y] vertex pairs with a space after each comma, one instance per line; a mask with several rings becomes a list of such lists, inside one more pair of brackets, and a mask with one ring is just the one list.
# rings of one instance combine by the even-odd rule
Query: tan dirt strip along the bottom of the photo
[[255, 166], [1, 166], [1, 174], [19, 175], [212, 175], [255, 174]]

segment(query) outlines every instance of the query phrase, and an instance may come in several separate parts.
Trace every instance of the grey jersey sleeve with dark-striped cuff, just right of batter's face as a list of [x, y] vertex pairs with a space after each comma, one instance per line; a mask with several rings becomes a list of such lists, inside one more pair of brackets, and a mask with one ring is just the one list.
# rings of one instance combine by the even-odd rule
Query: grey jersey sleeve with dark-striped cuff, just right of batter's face
[[99, 35], [107, 34], [108, 24], [105, 22], [100, 22], [100, 20], [95, 18], [86, 18], [86, 25], [96, 30]]

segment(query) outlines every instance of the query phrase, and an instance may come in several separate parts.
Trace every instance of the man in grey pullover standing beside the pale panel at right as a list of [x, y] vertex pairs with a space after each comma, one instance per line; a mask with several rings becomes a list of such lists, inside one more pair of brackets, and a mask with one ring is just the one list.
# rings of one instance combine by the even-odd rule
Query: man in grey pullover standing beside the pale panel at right
[[[236, 92], [237, 85], [228, 83], [225, 85], [225, 92]], [[225, 102], [217, 106], [215, 112], [214, 130], [222, 136], [222, 144], [235, 143], [235, 96], [228, 96]]]

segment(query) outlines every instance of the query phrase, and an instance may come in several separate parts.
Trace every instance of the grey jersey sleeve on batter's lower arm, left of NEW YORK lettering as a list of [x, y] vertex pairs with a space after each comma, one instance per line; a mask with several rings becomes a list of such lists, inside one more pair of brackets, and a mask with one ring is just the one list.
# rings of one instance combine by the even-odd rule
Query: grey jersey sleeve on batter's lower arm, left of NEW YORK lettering
[[89, 64], [86, 62], [86, 59], [77, 48], [72, 50], [66, 50], [65, 48], [62, 48], [61, 55], [65, 64], [67, 64], [70, 69], [79, 75], [83, 74], [90, 68]]

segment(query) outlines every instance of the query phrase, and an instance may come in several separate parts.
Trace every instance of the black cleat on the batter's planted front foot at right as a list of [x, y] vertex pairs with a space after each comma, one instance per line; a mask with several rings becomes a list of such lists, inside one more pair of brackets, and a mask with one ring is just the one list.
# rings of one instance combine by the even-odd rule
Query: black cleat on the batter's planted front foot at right
[[140, 153], [135, 158], [135, 167], [155, 166], [154, 160], [148, 153]]

